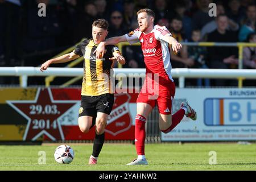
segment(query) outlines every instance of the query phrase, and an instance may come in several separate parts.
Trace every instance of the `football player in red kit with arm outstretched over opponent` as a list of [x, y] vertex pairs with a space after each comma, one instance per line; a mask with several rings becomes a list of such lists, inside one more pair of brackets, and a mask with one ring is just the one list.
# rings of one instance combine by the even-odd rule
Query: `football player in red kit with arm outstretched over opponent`
[[135, 147], [138, 158], [127, 165], [148, 164], [144, 155], [146, 138], [145, 122], [155, 105], [159, 109], [159, 128], [169, 133], [184, 117], [196, 120], [196, 111], [187, 103], [182, 103], [180, 110], [172, 114], [172, 102], [175, 84], [171, 76], [171, 50], [177, 52], [181, 44], [177, 42], [166, 27], [154, 26], [155, 14], [150, 9], [137, 12], [139, 28], [129, 34], [113, 37], [101, 42], [96, 49], [96, 56], [104, 55], [105, 46], [119, 42], [130, 44], [140, 42], [146, 64], [146, 79], [137, 98], [137, 116], [135, 118]]

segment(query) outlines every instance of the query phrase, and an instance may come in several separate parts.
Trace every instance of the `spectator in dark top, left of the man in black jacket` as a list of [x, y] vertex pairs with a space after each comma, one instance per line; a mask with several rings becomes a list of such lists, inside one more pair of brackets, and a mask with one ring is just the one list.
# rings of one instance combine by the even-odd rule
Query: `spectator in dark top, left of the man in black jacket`
[[[192, 31], [192, 42], [198, 43], [201, 39], [201, 31], [199, 29]], [[201, 46], [188, 46], [188, 57], [195, 61], [192, 68], [204, 68], [207, 69], [207, 48]], [[210, 80], [204, 79], [204, 85], [210, 86]], [[197, 79], [197, 86], [203, 86], [203, 79]]]

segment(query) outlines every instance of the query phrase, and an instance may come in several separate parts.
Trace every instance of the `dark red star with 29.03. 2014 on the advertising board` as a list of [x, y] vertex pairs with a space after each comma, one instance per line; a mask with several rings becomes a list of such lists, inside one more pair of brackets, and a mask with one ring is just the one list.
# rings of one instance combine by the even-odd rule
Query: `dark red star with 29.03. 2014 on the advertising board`
[[51, 140], [64, 140], [59, 118], [77, 103], [77, 101], [54, 101], [49, 88], [39, 88], [34, 101], [6, 102], [28, 120], [23, 140], [33, 141], [43, 134]]

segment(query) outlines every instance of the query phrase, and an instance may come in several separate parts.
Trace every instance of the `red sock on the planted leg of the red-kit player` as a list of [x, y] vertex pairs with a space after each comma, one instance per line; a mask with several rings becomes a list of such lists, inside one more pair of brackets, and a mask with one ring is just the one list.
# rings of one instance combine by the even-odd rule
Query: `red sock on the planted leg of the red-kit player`
[[135, 147], [137, 151], [137, 155], [145, 155], [145, 139], [146, 139], [146, 131], [145, 131], [145, 123], [146, 118], [143, 115], [137, 114], [135, 118]]

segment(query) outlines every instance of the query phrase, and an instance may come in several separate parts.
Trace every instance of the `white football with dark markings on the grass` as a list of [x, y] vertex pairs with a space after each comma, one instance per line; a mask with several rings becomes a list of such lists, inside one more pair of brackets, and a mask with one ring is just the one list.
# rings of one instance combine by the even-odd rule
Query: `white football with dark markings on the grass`
[[69, 164], [73, 161], [75, 152], [70, 146], [61, 144], [55, 149], [54, 158], [57, 163], [60, 164]]

